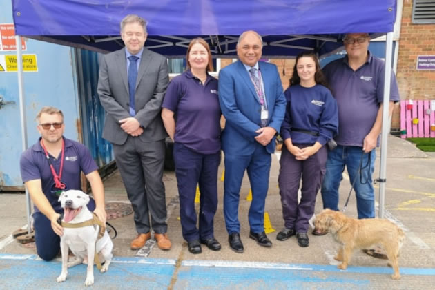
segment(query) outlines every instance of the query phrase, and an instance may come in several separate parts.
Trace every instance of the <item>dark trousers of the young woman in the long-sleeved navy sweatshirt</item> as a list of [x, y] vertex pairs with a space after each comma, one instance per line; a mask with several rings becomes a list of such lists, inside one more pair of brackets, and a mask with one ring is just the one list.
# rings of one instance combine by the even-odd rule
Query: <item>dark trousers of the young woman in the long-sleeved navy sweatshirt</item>
[[[296, 144], [299, 148], [309, 144]], [[314, 214], [316, 195], [322, 186], [323, 175], [326, 171], [328, 151], [326, 146], [311, 155], [307, 160], [296, 160], [285, 144], [282, 146], [280, 159], [280, 186], [282, 216], [286, 229], [294, 229], [298, 233], [307, 233], [309, 219]], [[302, 197], [298, 204], [298, 190], [302, 177]]]

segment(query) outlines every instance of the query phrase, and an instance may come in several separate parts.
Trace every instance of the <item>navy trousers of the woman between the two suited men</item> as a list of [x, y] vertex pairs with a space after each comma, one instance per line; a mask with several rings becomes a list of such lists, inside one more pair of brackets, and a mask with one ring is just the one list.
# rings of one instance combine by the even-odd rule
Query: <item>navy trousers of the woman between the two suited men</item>
[[[214, 236], [213, 220], [218, 209], [218, 166], [220, 152], [201, 154], [180, 143], [174, 144], [175, 175], [180, 196], [180, 220], [187, 242]], [[200, 186], [200, 223], [196, 227], [195, 195]]]

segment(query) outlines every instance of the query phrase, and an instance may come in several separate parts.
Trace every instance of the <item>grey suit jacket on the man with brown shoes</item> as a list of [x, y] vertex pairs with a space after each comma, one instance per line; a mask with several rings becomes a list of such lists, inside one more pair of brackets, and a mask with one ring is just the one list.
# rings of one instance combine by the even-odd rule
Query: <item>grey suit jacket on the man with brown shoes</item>
[[[160, 111], [168, 82], [166, 58], [144, 48], [135, 91], [135, 118], [144, 128], [144, 133], [139, 136], [143, 142], [167, 137]], [[122, 130], [119, 120], [131, 117], [125, 48], [102, 57], [97, 91], [101, 105], [106, 110], [103, 138], [113, 144], [122, 145], [128, 134]]]

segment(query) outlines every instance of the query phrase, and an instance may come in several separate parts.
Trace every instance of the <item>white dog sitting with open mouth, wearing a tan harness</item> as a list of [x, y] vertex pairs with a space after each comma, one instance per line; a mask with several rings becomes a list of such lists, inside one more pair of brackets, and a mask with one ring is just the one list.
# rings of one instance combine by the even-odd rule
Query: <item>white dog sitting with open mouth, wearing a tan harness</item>
[[[64, 219], [62, 222], [68, 224], [79, 224], [93, 219], [86, 206], [89, 202], [89, 195], [83, 191], [69, 190], [64, 191], [59, 202], [64, 208]], [[62, 271], [57, 282], [63, 282], [68, 275], [68, 267], [75, 266], [83, 262], [88, 264], [86, 272], [85, 285], [94, 284], [94, 258], [95, 252], [99, 255], [99, 260], [104, 265], [101, 267], [101, 273], [107, 271], [110, 261], [112, 260], [113, 242], [107, 231], [104, 231], [102, 238], [98, 239], [99, 226], [83, 226], [79, 228], [64, 227], [64, 235], [61, 236], [61, 253], [62, 253]], [[68, 249], [77, 257], [75, 261], [68, 263]]]

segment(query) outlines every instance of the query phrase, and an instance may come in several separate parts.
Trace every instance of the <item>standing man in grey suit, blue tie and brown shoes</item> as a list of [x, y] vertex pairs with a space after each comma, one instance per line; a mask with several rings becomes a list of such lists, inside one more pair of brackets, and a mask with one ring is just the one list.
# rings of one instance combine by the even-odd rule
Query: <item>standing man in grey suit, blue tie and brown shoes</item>
[[[121, 22], [125, 48], [101, 59], [98, 95], [106, 110], [103, 137], [113, 145], [128, 199], [135, 212], [137, 237], [131, 249], [151, 238], [160, 249], [171, 249], [162, 182], [167, 137], [160, 117], [168, 86], [166, 58], [144, 48], [146, 21], [127, 15]], [[151, 215], [151, 223], [150, 223]]]

